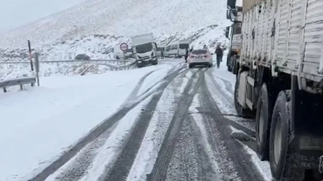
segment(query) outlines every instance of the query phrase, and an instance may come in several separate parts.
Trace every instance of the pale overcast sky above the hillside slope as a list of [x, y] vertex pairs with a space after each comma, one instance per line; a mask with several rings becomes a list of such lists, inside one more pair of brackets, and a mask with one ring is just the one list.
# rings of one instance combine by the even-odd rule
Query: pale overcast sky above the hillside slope
[[0, 31], [9, 30], [86, 0], [1, 0]]

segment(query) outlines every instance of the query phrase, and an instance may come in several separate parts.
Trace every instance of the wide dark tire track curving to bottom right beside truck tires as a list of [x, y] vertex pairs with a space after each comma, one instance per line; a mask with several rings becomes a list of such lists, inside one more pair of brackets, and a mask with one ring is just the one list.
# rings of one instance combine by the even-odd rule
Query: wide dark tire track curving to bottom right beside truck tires
[[[245, 151], [243, 145], [230, 136], [232, 133], [230, 128], [232, 122], [229, 122], [228, 119], [222, 116], [205, 81], [201, 87], [201, 107], [197, 109], [199, 113], [203, 114], [204, 125], [208, 130], [207, 132], [210, 133], [208, 140], [211, 143], [212, 149], [221, 157], [218, 160], [218, 166], [226, 173], [225, 175], [230, 176], [237, 172], [238, 176], [223, 179], [263, 181], [263, 176], [251, 161], [251, 156]], [[230, 163], [233, 164], [230, 165]]]

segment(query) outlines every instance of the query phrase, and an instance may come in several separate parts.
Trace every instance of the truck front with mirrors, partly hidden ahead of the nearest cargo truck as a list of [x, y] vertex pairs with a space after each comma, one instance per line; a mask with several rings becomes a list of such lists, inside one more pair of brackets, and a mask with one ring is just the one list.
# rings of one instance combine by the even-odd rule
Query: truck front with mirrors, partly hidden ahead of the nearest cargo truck
[[232, 22], [230, 26], [225, 29], [225, 37], [229, 39], [229, 51], [226, 59], [226, 66], [228, 71], [236, 74], [234, 67], [236, 60], [240, 57], [241, 50], [241, 25], [242, 25], [242, 0], [236, 2], [234, 7], [228, 5], [226, 18]]

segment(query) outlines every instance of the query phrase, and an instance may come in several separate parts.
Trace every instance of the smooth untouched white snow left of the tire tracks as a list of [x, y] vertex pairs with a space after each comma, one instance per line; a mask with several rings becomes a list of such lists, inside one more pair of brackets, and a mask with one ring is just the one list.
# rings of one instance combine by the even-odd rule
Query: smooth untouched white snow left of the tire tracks
[[154, 71], [138, 94], [159, 82], [156, 75], [162, 78], [172, 67], [162, 64], [100, 75], [43, 77], [41, 87], [0, 93], [2, 120], [6, 121], [0, 131], [0, 142], [6, 145], [1, 154], [6, 167], [0, 180], [46, 167], [121, 104], [132, 101], [126, 97], [140, 77]]

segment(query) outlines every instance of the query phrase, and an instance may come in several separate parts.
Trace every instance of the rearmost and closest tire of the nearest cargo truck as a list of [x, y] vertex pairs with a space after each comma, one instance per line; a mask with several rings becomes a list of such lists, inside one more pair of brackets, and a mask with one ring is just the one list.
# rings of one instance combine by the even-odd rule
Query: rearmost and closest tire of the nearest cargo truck
[[302, 181], [304, 168], [294, 167], [290, 157], [294, 153], [291, 141], [290, 97], [288, 91], [280, 91], [273, 109], [269, 137], [269, 163], [275, 180]]

